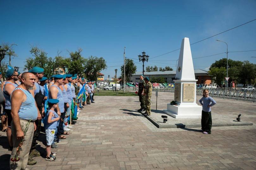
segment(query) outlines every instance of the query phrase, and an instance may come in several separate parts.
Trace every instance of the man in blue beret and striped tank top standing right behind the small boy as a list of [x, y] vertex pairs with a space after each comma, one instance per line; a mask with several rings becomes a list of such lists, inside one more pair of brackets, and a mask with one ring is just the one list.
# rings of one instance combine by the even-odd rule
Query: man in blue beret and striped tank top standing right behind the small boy
[[50, 90], [49, 98], [59, 100], [58, 107], [57, 107], [57, 114], [60, 115], [61, 119], [59, 120], [56, 136], [59, 139], [66, 139], [65, 136], [61, 135], [64, 133], [63, 120], [65, 119], [64, 97], [63, 97], [62, 91], [59, 88], [59, 86], [62, 85], [62, 83], [63, 83], [63, 75], [60, 75], [60, 74], [55, 75], [54, 84], [49, 89]]

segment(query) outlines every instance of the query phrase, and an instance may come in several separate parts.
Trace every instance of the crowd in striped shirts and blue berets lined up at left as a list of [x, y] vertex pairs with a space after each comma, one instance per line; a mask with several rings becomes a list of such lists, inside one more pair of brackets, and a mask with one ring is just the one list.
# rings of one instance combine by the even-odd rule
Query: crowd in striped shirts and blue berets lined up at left
[[[48, 80], [40, 67], [25, 73], [13, 68], [6, 72], [6, 81], [0, 81], [0, 102], [3, 106], [2, 131], [7, 133], [12, 151], [10, 169], [26, 169], [27, 164], [36, 164], [33, 157], [41, 155], [36, 148], [37, 138], [46, 126], [53, 127], [54, 121], [53, 139], [50, 140], [46, 133], [46, 140], [50, 148], [58, 148], [56, 143], [67, 138], [65, 135], [69, 135], [71, 125], [75, 125], [84, 106], [95, 103], [94, 83], [77, 74], [57, 74]], [[56, 115], [50, 114], [48, 119], [50, 108]], [[48, 144], [49, 141], [52, 142]], [[55, 157], [56, 153], [50, 152], [46, 160], [53, 161]]]

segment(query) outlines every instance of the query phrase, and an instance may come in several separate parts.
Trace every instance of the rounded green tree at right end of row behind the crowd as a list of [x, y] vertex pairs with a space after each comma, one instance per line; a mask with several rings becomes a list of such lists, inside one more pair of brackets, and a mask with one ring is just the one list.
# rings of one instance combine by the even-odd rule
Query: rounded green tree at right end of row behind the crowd
[[103, 57], [91, 56], [84, 59], [84, 74], [88, 80], [97, 80], [97, 73], [107, 68]]

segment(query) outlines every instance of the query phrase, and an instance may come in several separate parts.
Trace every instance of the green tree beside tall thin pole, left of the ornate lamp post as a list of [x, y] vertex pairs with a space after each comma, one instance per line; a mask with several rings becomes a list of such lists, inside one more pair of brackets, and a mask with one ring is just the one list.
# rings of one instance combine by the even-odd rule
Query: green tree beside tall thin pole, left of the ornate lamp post
[[[133, 60], [131, 59], [125, 59], [125, 82], [129, 82], [132, 74], [136, 72], [137, 67], [135, 66]], [[124, 77], [124, 66], [121, 66], [121, 77], [122, 77], [122, 83], [123, 83], [123, 77]]]

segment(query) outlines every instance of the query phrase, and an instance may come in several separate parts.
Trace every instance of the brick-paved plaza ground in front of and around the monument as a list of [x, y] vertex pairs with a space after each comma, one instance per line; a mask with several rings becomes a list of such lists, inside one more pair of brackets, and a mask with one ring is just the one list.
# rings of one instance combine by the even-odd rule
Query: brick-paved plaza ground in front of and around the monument
[[[200, 96], [197, 96], [199, 100]], [[159, 92], [158, 110], [166, 109], [173, 93]], [[255, 169], [256, 103], [215, 98], [216, 115], [237, 117], [253, 126], [213, 127], [204, 135], [200, 128], [159, 129], [135, 110], [138, 97], [97, 97], [84, 108], [77, 124], [58, 143], [55, 161], [45, 161], [45, 136], [41, 133], [29, 169]], [[0, 132], [0, 168], [6, 169], [10, 151]]]

